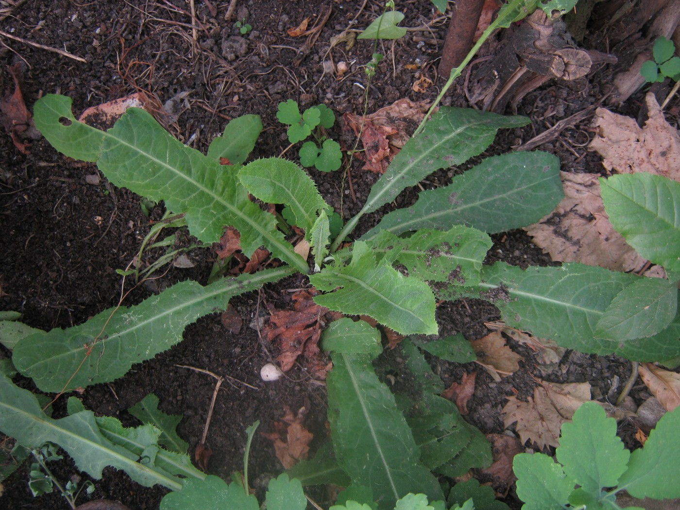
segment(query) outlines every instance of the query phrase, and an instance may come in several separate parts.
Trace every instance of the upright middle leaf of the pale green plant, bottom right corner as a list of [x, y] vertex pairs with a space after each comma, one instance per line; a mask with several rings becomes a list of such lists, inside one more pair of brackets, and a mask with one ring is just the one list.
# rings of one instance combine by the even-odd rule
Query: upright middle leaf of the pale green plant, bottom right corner
[[598, 497], [602, 488], [616, 486], [628, 458], [630, 452], [616, 435], [616, 420], [607, 418], [602, 406], [586, 402], [562, 425], [557, 460], [586, 492]]

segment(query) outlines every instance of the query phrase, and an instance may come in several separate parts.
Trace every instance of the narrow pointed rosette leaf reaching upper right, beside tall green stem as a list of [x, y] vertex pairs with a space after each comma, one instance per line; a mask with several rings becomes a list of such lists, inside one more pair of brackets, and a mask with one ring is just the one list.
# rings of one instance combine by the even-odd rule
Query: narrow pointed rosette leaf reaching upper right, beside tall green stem
[[[371, 188], [361, 211], [354, 216], [333, 244], [332, 251], [349, 234], [359, 218], [392, 202], [409, 186], [415, 186], [430, 173], [452, 165], [460, 165], [481, 154], [491, 145], [500, 128], [521, 127], [528, 124], [526, 117], [500, 116], [474, 109], [441, 107], [394, 156], [387, 171]], [[445, 227], [450, 228], [452, 224]], [[415, 228], [413, 228], [415, 230]]]

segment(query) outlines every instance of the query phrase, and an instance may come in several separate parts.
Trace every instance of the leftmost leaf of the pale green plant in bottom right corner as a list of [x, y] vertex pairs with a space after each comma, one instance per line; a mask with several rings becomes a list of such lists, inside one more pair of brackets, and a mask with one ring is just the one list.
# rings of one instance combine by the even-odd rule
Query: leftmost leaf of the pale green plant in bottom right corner
[[517, 454], [513, 458], [517, 496], [522, 510], [564, 510], [575, 483], [562, 466], [545, 454]]

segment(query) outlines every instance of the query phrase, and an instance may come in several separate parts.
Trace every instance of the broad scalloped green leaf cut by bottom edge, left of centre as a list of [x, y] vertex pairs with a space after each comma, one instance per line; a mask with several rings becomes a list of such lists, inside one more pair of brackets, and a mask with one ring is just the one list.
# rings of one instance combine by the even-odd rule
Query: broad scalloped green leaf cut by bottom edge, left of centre
[[160, 510], [260, 510], [254, 494], [246, 494], [235, 481], [226, 483], [209, 475], [205, 480], [187, 478], [181, 492], [171, 492], [160, 501]]

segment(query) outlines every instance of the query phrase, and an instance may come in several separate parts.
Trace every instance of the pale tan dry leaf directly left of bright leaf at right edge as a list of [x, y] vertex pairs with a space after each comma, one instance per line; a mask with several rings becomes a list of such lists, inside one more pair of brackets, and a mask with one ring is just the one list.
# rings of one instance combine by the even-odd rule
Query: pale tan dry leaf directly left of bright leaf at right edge
[[613, 271], [638, 271], [647, 262], [614, 230], [600, 197], [599, 175], [560, 172], [564, 199], [524, 230], [553, 260]]

